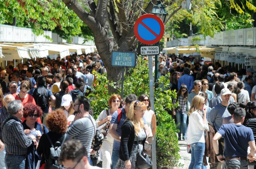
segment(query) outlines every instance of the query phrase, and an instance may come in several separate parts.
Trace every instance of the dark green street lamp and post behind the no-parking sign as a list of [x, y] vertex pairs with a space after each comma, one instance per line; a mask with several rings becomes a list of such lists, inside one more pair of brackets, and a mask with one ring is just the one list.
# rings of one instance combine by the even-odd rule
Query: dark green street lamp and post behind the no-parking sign
[[[153, 9], [151, 10], [152, 14], [158, 16], [163, 23], [165, 22], [165, 18], [166, 18], [166, 11], [165, 11], [165, 6], [164, 4], [162, 4], [161, 0], [158, 0], [156, 5], [154, 4]], [[159, 42], [156, 43], [156, 45], [159, 45]], [[158, 87], [158, 55], [155, 55], [155, 88]]]

